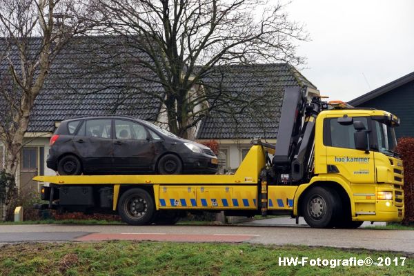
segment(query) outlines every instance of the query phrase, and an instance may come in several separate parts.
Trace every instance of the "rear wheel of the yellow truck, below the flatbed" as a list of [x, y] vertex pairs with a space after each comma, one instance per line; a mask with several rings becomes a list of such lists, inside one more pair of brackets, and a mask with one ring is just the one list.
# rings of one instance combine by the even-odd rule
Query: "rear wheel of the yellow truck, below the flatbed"
[[119, 199], [118, 213], [127, 224], [150, 224], [154, 216], [154, 200], [146, 190], [129, 189]]

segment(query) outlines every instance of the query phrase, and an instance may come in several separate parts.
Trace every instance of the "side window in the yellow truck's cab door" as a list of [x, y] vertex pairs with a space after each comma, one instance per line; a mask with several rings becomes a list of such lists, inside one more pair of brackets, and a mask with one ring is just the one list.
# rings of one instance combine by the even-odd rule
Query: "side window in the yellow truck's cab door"
[[[354, 121], [362, 121], [368, 129], [366, 117], [354, 117]], [[357, 131], [353, 124], [344, 126], [337, 122], [337, 118], [325, 119], [324, 122], [324, 144], [336, 148], [355, 148], [354, 133]], [[328, 123], [328, 124], [327, 124]]]

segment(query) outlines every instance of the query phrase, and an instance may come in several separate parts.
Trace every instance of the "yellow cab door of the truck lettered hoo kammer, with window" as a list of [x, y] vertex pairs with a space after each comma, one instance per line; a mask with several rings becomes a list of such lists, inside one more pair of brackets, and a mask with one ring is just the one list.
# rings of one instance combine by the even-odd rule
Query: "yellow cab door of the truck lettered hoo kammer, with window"
[[[326, 165], [328, 174], [342, 175], [351, 184], [374, 184], [375, 164], [373, 150], [355, 149], [353, 124], [339, 124], [342, 115], [328, 115], [324, 119], [324, 145], [326, 146]], [[353, 117], [362, 121], [366, 130], [371, 130], [371, 119], [364, 115]], [[368, 135], [371, 134], [368, 132]], [[371, 140], [371, 138], [369, 139]], [[371, 144], [371, 141], [368, 141]]]

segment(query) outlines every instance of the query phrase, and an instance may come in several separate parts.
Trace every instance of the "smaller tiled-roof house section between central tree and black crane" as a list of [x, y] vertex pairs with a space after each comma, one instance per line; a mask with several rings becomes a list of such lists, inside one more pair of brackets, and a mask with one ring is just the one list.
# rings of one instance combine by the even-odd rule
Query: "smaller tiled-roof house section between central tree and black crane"
[[[242, 92], [244, 97], [257, 99], [253, 103], [255, 107], [247, 107], [241, 114], [213, 110], [197, 130], [198, 141], [218, 141], [220, 162], [226, 171], [238, 168], [253, 138], [276, 143], [284, 88], [306, 87], [308, 99], [319, 95], [316, 86], [288, 63], [235, 65], [214, 76], [204, 79], [206, 89], [220, 87], [224, 91]], [[216, 84], [218, 82], [219, 85]]]

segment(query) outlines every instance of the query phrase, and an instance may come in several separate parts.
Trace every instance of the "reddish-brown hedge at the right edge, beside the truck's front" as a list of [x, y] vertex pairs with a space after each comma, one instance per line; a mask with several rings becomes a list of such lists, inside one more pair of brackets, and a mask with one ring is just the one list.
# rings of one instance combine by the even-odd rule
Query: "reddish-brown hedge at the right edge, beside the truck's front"
[[414, 138], [402, 137], [398, 140], [397, 152], [404, 163], [404, 206], [403, 224], [414, 223]]

